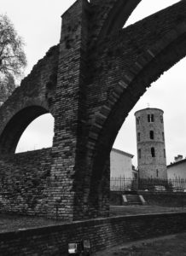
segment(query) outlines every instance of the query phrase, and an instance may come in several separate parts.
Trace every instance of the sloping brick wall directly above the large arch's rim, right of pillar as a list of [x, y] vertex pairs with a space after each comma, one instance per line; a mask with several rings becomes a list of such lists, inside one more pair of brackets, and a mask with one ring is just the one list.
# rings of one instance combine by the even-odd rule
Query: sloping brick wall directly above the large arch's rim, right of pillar
[[[161, 10], [134, 25], [116, 31], [114, 35], [97, 42], [96, 51], [90, 52], [92, 58], [93, 84], [88, 94], [92, 113], [102, 106], [112, 93], [119, 80], [129, 75], [132, 66], [140, 55], [148, 50], [160, 38], [164, 38], [178, 23], [185, 20], [185, 3]], [[127, 82], [127, 81], [126, 81]], [[102, 84], [102, 85], [101, 85]], [[97, 102], [99, 95], [99, 103]]]

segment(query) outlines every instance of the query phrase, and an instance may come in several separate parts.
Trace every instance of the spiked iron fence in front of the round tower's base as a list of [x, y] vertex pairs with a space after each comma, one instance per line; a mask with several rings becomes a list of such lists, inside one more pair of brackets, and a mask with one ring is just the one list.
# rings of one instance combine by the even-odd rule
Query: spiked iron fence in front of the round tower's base
[[113, 191], [145, 190], [186, 192], [186, 179], [111, 177], [110, 189]]

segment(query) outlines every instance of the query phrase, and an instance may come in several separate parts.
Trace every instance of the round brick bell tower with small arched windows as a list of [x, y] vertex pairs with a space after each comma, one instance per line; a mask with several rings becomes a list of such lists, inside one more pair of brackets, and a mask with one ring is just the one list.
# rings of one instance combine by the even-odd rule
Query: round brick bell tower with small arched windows
[[145, 108], [135, 113], [140, 178], [167, 179], [163, 111]]

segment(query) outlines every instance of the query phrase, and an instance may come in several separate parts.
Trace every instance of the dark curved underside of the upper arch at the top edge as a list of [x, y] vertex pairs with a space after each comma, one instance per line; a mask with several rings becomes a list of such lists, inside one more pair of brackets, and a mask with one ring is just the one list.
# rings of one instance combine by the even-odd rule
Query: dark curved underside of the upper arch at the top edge
[[137, 8], [137, 5], [142, 0], [118, 0], [114, 4], [108, 18], [105, 20], [102, 30], [100, 32], [99, 39], [105, 38], [109, 35], [112, 35], [117, 30], [121, 29], [125, 22], [129, 19], [129, 16]]

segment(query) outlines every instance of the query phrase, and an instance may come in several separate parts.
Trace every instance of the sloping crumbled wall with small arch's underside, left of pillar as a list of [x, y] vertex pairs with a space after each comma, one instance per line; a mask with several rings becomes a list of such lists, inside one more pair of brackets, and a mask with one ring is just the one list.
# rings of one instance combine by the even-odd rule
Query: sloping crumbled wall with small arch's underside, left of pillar
[[54, 46], [0, 108], [0, 154], [15, 153], [20, 136], [32, 119], [43, 113], [54, 115], [57, 64], [58, 46]]

